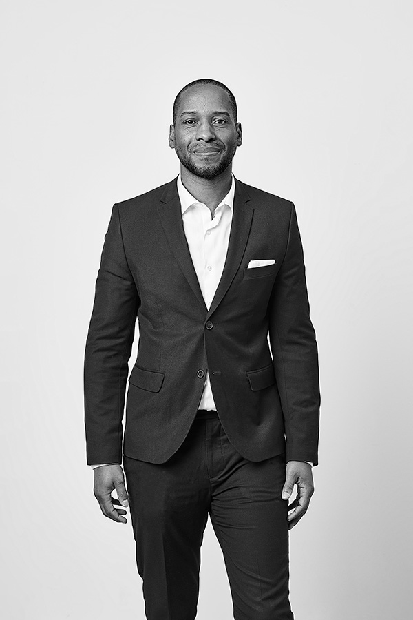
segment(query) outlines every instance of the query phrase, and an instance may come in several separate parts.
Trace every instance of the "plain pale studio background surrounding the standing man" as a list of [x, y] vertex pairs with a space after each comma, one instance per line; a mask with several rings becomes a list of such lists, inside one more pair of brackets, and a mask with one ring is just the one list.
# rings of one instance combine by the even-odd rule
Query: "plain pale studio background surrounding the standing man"
[[[92, 495], [83, 351], [112, 204], [176, 176], [171, 105], [199, 77], [237, 97], [235, 176], [293, 200], [304, 242], [323, 403], [296, 620], [410, 617], [410, 6], [1, 3], [6, 620], [144, 618], [130, 523]], [[201, 577], [198, 618], [230, 619], [209, 527]]]

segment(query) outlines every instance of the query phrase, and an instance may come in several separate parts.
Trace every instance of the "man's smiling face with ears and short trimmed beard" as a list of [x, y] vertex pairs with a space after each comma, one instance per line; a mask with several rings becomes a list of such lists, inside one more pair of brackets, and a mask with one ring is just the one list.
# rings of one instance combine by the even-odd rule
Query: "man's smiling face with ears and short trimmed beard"
[[226, 91], [208, 84], [182, 94], [169, 146], [189, 172], [215, 178], [231, 164], [241, 143], [241, 125], [235, 123]]

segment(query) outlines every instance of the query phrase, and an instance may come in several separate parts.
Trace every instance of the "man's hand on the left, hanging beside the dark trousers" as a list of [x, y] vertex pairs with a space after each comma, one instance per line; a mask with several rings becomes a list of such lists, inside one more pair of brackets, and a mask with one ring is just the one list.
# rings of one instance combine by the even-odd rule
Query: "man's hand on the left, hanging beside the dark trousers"
[[[112, 497], [112, 491], [116, 489], [118, 499]], [[125, 476], [120, 465], [103, 465], [94, 469], [94, 496], [99, 502], [100, 510], [105, 517], [118, 523], [127, 523], [126, 510], [115, 509], [116, 506], [129, 506], [127, 491], [125, 487]]]

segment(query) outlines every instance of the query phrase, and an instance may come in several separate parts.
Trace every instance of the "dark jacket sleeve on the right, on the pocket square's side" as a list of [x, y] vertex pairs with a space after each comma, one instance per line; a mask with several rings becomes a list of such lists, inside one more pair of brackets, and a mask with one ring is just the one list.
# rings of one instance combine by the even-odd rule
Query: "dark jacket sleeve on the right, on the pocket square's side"
[[319, 371], [295, 207], [270, 302], [269, 335], [282, 403], [286, 460], [318, 463]]

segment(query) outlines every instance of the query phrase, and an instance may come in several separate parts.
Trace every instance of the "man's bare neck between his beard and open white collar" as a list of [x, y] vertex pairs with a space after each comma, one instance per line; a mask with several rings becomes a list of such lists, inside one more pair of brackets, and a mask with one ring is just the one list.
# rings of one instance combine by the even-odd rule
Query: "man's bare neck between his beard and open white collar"
[[187, 188], [189, 194], [192, 194], [200, 203], [207, 205], [213, 216], [216, 207], [218, 207], [231, 188], [232, 165], [230, 164], [224, 172], [211, 179], [201, 178], [192, 174], [182, 164], [180, 174], [182, 183]]

